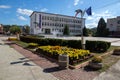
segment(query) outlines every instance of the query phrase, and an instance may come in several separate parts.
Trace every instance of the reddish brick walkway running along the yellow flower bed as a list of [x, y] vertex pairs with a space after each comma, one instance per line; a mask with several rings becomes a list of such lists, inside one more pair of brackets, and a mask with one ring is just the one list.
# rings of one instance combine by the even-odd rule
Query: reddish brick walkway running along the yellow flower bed
[[95, 71], [84, 69], [60, 70], [55, 60], [48, 60], [42, 55], [38, 56], [16, 44], [12, 44], [11, 46], [14, 47], [14, 49], [16, 49], [22, 55], [43, 68], [44, 72], [51, 73], [60, 80], [93, 80], [93, 78], [99, 74]]

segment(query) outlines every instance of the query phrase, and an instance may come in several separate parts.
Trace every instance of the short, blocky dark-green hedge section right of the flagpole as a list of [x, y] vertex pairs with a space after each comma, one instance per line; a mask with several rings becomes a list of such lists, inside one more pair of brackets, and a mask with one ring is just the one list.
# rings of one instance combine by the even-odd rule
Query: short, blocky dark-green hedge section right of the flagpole
[[111, 46], [110, 42], [105, 41], [86, 41], [86, 49], [90, 50], [90, 52], [105, 52], [107, 49], [109, 49]]

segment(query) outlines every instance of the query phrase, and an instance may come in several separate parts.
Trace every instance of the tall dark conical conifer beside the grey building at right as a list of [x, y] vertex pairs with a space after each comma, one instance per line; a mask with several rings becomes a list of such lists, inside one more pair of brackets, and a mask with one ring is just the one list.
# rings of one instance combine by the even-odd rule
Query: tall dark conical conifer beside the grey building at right
[[109, 30], [106, 28], [106, 22], [103, 18], [100, 18], [97, 26], [96, 36], [106, 37], [109, 35]]

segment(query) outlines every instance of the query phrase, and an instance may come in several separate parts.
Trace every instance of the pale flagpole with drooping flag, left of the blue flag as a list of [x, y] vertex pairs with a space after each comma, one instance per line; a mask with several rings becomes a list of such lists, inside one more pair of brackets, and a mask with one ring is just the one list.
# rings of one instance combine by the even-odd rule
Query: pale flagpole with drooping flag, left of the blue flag
[[77, 9], [75, 10], [76, 12], [76, 15], [75, 17], [77, 16], [77, 14], [81, 13], [81, 19], [82, 19], [82, 24], [81, 24], [81, 45], [82, 45], [82, 49], [85, 49], [85, 44], [84, 44], [84, 36], [83, 36], [83, 28], [84, 28], [84, 14], [85, 14], [85, 11], [82, 11], [81, 9]]

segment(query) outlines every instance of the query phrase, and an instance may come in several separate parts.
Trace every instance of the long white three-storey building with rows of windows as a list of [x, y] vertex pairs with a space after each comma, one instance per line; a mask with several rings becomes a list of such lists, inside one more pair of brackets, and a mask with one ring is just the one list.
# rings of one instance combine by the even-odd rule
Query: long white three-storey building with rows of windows
[[85, 24], [85, 19], [34, 11], [30, 16], [30, 33], [63, 35], [67, 25], [70, 35], [81, 35], [82, 22]]

